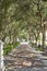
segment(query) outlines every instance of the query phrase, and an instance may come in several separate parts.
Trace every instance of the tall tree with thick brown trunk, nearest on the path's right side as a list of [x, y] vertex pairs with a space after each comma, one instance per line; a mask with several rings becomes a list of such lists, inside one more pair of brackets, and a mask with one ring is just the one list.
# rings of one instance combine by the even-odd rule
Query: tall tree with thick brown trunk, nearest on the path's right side
[[47, 9], [45, 8], [45, 4], [43, 3], [42, 0], [38, 0], [37, 2], [37, 15], [39, 16], [40, 21], [40, 28], [43, 33], [43, 49], [45, 48], [45, 26], [46, 24], [44, 23], [47, 17]]

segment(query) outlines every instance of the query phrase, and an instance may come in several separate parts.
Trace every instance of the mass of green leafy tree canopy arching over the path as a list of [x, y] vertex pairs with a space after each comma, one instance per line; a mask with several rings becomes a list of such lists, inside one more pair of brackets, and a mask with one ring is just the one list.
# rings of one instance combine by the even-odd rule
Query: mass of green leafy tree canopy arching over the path
[[[45, 32], [47, 31], [47, 2], [43, 0], [0, 0], [0, 39], [9, 38], [15, 43], [23, 37], [23, 31], [28, 40], [37, 43], [43, 34], [43, 48], [45, 47]], [[26, 38], [26, 35], [24, 35]], [[27, 38], [26, 38], [27, 40]]]

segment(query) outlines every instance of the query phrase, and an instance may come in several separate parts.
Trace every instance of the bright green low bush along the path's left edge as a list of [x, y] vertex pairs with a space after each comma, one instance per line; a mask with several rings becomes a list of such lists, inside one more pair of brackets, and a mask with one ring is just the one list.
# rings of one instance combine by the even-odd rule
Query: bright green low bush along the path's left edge
[[20, 43], [7, 44], [3, 48], [3, 55], [8, 55], [12, 49], [14, 49]]

